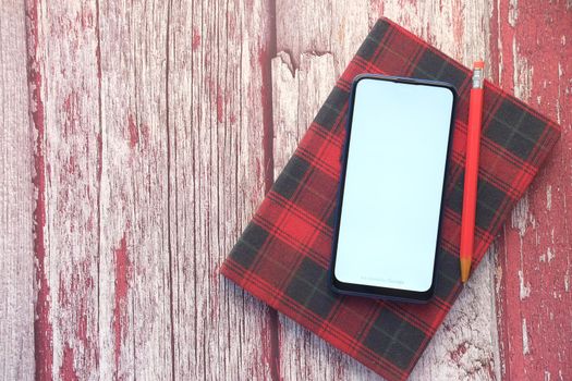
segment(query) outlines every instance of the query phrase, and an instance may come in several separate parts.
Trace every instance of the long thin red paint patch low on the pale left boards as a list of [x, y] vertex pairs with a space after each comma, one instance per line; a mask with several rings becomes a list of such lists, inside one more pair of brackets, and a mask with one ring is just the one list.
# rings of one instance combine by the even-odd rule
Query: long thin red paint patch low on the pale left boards
[[115, 256], [115, 306], [113, 307], [113, 333], [115, 339], [115, 376], [119, 370], [119, 357], [121, 355], [121, 341], [123, 337], [122, 322], [124, 319], [125, 297], [129, 288], [130, 260], [127, 256], [127, 244], [125, 234], [114, 250]]

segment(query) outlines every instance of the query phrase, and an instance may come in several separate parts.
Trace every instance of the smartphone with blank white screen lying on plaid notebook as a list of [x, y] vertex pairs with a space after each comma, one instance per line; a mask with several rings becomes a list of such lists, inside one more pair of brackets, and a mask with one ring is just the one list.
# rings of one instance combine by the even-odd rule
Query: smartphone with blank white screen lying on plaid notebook
[[364, 74], [352, 85], [330, 280], [342, 294], [427, 302], [457, 93]]

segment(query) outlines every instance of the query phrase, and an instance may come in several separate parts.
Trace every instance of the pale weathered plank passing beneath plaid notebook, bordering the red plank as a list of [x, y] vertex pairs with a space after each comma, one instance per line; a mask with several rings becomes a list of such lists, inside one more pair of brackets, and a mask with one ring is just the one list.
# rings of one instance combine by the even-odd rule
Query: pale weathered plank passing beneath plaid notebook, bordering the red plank
[[[324, 67], [303, 67], [304, 60], [321, 66], [327, 62], [320, 63], [317, 57], [297, 54], [305, 51], [331, 52], [337, 76], [366, 35], [365, 25], [372, 26], [379, 15], [386, 15], [465, 64], [479, 57], [488, 59], [486, 36], [491, 12], [488, 4], [472, 2], [462, 7], [449, 1], [435, 7], [433, 2], [372, 1], [366, 4], [367, 13], [362, 12], [361, 5], [348, 2], [307, 7], [293, 7], [289, 2], [277, 4], [277, 46], [279, 50], [291, 51], [294, 58], [280, 53], [280, 58], [272, 63], [276, 173], [307, 127], [308, 119], [301, 119], [300, 115], [313, 116], [319, 107], [319, 103], [307, 102], [306, 94], [318, 93], [316, 88], [330, 83], [328, 76], [320, 77], [329, 75]], [[321, 21], [322, 17], [327, 22]], [[332, 32], [333, 28], [336, 32]], [[292, 70], [295, 70], [294, 76], [289, 73]], [[316, 74], [311, 77], [303, 74], [311, 71]], [[419, 360], [412, 379], [498, 377], [492, 271], [487, 255]], [[331, 374], [339, 379], [373, 377], [364, 367], [340, 355], [289, 319], [280, 318], [280, 369], [288, 379], [330, 379]], [[304, 366], [300, 365], [300, 358], [305, 359]]]

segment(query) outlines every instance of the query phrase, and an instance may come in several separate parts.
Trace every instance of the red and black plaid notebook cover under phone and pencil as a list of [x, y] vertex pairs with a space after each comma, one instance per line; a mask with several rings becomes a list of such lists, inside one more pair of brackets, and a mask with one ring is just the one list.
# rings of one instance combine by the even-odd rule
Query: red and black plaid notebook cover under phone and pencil
[[[452, 83], [459, 91], [446, 177], [435, 297], [390, 303], [332, 294], [328, 285], [348, 99], [361, 73]], [[406, 379], [462, 285], [459, 270], [471, 71], [381, 19], [321, 107], [221, 272], [389, 380]], [[473, 267], [560, 136], [560, 127], [485, 83]]]

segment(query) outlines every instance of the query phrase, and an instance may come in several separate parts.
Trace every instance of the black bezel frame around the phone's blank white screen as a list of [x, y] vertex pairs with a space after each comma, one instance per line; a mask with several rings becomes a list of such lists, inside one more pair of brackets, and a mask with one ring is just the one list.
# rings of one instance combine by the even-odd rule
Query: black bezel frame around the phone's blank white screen
[[[435, 245], [433, 279], [431, 279], [431, 285], [429, 288], [427, 288], [427, 291], [416, 292], [416, 291], [411, 291], [411, 290], [400, 290], [400, 288], [391, 288], [391, 287], [379, 287], [379, 286], [373, 286], [373, 285], [345, 283], [345, 282], [339, 281], [336, 278], [336, 271], [334, 271], [336, 256], [338, 253], [338, 237], [340, 233], [339, 230], [340, 230], [341, 208], [343, 204], [345, 171], [348, 168], [348, 153], [350, 150], [350, 137], [351, 137], [351, 130], [352, 130], [355, 90], [356, 90], [356, 86], [360, 83], [360, 81], [365, 79], [365, 78], [378, 79], [378, 81], [389, 81], [389, 82], [404, 83], [404, 84], [412, 84], [412, 85], [443, 87], [443, 88], [449, 89], [453, 96], [453, 103], [451, 107], [451, 121], [449, 123], [449, 142], [447, 144], [447, 156], [446, 156], [446, 164], [445, 164], [445, 172], [443, 172], [443, 180], [442, 180], [443, 190], [441, 192], [441, 201], [440, 201], [441, 205], [439, 208], [439, 228], [437, 231], [437, 239], [436, 239], [436, 245]], [[377, 298], [382, 298], [382, 299], [414, 302], [414, 303], [426, 303], [433, 297], [433, 294], [435, 291], [435, 273], [436, 273], [436, 267], [437, 267], [437, 249], [438, 249], [439, 239], [441, 236], [441, 229], [442, 229], [441, 224], [442, 224], [442, 214], [443, 214], [445, 180], [447, 179], [447, 174], [449, 173], [449, 160], [448, 159], [451, 153], [452, 130], [453, 130], [454, 115], [455, 115], [455, 110], [457, 110], [457, 99], [458, 99], [457, 89], [454, 88], [452, 84], [449, 84], [446, 82], [409, 78], [409, 77], [400, 77], [400, 76], [387, 76], [387, 75], [380, 75], [380, 74], [360, 74], [355, 76], [352, 83], [349, 110], [348, 110], [348, 120], [345, 123], [345, 143], [343, 146], [342, 155], [340, 157], [341, 172], [340, 172], [340, 183], [338, 186], [336, 221], [334, 221], [334, 226], [333, 226], [332, 257], [331, 257], [330, 269], [329, 269], [330, 286], [332, 291], [339, 294], [344, 294], [344, 295], [368, 296], [368, 297], [377, 297]]]

